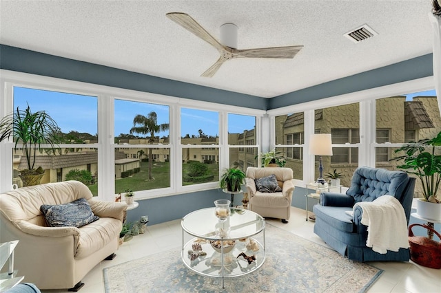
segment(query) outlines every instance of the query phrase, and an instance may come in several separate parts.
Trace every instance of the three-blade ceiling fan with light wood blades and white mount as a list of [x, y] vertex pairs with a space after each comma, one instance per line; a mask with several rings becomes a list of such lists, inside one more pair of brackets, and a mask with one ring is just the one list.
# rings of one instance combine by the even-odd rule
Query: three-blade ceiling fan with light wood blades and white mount
[[[183, 12], [170, 12], [166, 14], [169, 19], [172, 19], [178, 25], [192, 32], [199, 38], [203, 39], [210, 45], [216, 48], [220, 53], [218, 61], [216, 61], [209, 69], [207, 69], [201, 76], [212, 77], [220, 66], [228, 60], [234, 58], [294, 58], [296, 54], [302, 49], [302, 45], [287, 46], [287, 47], [264, 47], [256, 49], [237, 49], [237, 26], [233, 23], [225, 23], [220, 27], [220, 39], [222, 43], [216, 40], [209, 32], [207, 32], [199, 23], [192, 17]], [[224, 41], [224, 40], [225, 41]]]

